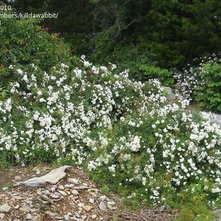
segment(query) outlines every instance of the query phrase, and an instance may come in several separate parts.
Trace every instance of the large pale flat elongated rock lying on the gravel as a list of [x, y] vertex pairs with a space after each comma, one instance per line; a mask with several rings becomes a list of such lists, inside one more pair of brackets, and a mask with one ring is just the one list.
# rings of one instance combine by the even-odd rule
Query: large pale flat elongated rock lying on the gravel
[[65, 173], [65, 170], [70, 167], [71, 166], [59, 167], [57, 169], [52, 170], [50, 173], [44, 176], [34, 177], [29, 180], [26, 180], [22, 184], [29, 186], [29, 187], [38, 187], [46, 183], [56, 184], [59, 180], [63, 179], [67, 175]]

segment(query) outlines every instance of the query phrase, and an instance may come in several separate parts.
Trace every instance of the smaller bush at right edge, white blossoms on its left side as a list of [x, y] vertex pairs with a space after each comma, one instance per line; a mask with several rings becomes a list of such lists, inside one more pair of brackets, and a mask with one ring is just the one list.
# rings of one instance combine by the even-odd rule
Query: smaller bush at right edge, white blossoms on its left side
[[221, 64], [213, 56], [175, 74], [180, 92], [203, 109], [221, 111]]

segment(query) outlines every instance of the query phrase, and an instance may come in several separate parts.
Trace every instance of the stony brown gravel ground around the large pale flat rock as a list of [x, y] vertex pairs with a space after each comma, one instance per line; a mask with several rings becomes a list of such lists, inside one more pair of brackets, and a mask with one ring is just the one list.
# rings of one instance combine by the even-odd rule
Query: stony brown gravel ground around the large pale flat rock
[[117, 195], [103, 194], [78, 167], [68, 168], [66, 176], [56, 184], [24, 185], [29, 178], [41, 177], [51, 170], [47, 165], [1, 170], [0, 221], [171, 221], [175, 216], [160, 208], [128, 211]]

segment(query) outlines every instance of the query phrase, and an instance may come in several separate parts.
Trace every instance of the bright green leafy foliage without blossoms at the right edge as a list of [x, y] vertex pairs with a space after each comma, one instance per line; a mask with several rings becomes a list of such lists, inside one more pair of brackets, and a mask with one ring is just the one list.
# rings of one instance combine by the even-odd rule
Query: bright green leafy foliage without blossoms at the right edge
[[204, 109], [221, 111], [221, 64], [207, 62], [202, 68], [205, 83], [195, 91], [196, 102]]

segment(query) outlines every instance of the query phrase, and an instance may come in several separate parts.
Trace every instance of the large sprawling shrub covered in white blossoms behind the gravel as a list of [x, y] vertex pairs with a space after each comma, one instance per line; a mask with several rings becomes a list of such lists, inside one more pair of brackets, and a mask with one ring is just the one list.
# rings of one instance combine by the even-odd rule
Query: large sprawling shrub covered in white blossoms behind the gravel
[[10, 66], [16, 77], [0, 101], [1, 159], [27, 164], [69, 157], [152, 203], [197, 185], [218, 200], [220, 126], [186, 110], [189, 100], [165, 97], [157, 80], [141, 83], [128, 71], [112, 74], [114, 65], [81, 61], [48, 72]]

